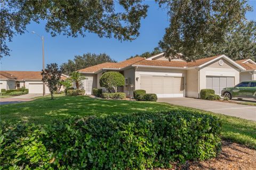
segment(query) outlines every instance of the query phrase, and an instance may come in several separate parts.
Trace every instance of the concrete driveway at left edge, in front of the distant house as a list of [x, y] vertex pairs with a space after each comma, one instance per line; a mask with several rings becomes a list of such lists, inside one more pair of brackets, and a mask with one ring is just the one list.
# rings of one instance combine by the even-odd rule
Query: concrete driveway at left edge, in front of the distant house
[[34, 100], [33, 98], [40, 97], [40, 96], [43, 96], [43, 94], [26, 94], [26, 95], [14, 96], [9, 98], [0, 98], [0, 105], [31, 101], [31, 100]]

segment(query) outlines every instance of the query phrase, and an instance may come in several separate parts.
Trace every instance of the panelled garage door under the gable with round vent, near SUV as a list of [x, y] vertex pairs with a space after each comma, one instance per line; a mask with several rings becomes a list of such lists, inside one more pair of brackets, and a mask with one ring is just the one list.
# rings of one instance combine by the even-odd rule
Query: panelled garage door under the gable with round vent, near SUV
[[234, 77], [206, 77], [206, 89], [213, 89], [217, 95], [221, 94], [223, 88], [234, 86]]

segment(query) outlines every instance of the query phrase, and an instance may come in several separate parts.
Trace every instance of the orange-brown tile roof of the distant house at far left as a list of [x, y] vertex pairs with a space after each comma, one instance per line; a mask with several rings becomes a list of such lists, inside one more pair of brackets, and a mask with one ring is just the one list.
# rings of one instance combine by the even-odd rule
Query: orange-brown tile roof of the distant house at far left
[[[42, 80], [41, 71], [0, 71], [0, 79], [9, 76], [9, 79], [22, 81], [22, 80]], [[10, 75], [12, 77], [10, 77]], [[61, 76], [62, 80], [67, 79], [66, 75]]]

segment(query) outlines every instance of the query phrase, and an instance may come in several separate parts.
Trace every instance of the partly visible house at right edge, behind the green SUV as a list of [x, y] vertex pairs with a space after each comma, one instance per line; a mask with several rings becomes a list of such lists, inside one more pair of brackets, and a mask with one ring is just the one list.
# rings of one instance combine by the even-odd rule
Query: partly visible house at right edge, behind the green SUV
[[240, 81], [256, 80], [256, 63], [251, 59], [238, 60], [246, 70], [240, 73]]

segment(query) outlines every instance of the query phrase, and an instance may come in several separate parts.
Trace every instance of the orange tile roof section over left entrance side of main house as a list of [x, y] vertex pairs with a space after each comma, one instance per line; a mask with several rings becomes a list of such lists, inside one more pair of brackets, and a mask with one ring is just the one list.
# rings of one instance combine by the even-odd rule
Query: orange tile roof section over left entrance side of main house
[[101, 69], [122, 69], [126, 66], [132, 65], [134, 63], [137, 63], [139, 61], [145, 60], [145, 58], [142, 57], [134, 57], [130, 58], [128, 60], [119, 62], [119, 63], [101, 63], [98, 65], [93, 65], [90, 67], [87, 67], [85, 69], [78, 70], [79, 72], [97, 72]]

